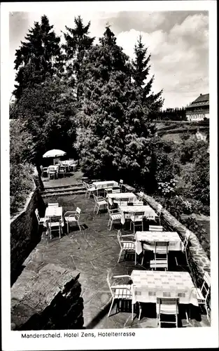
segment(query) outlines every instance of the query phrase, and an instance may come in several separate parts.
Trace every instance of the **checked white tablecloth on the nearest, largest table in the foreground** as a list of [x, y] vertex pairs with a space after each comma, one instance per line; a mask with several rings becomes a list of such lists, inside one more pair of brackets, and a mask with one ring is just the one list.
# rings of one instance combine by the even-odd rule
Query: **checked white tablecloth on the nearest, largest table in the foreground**
[[188, 272], [133, 270], [133, 301], [156, 303], [157, 298], [179, 298], [180, 303], [198, 306], [197, 293]]

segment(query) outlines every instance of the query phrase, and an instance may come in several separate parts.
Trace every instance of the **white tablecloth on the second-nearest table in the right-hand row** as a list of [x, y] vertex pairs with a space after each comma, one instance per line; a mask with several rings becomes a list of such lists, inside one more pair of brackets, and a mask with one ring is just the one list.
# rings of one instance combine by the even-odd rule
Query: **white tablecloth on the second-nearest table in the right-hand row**
[[142, 252], [142, 244], [144, 249], [153, 250], [155, 241], [169, 241], [169, 251], [182, 250], [182, 241], [177, 232], [136, 232], [135, 238], [138, 255]]

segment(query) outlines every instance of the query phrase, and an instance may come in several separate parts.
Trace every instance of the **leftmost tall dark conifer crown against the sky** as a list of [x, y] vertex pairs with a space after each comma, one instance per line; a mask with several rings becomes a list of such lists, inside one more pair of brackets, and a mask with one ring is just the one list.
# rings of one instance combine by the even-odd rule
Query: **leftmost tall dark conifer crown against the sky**
[[15, 90], [13, 94], [17, 100], [22, 96], [25, 88], [40, 84], [47, 77], [62, 71], [62, 53], [60, 38], [52, 31], [48, 18], [43, 15], [41, 23], [34, 22], [29, 29], [26, 41], [15, 53], [15, 69], [17, 70]]

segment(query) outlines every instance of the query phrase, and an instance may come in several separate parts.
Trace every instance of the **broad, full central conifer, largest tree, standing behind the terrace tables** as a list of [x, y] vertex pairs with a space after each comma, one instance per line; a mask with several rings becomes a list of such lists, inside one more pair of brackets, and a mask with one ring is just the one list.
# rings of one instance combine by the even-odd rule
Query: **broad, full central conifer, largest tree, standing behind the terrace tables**
[[149, 171], [148, 138], [155, 130], [131, 74], [129, 58], [107, 26], [83, 65], [84, 95], [76, 147], [83, 170], [90, 176], [122, 176], [134, 183]]

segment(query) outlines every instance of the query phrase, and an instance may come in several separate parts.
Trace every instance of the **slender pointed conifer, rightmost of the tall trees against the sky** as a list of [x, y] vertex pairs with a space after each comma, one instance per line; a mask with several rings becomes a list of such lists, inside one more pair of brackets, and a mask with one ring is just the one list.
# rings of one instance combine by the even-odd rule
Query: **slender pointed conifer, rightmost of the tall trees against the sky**
[[150, 111], [150, 116], [155, 117], [163, 105], [162, 91], [152, 93], [151, 89], [155, 77], [149, 78], [150, 55], [147, 55], [148, 48], [142, 42], [142, 36], [139, 35], [137, 44], [134, 46], [135, 58], [132, 60], [132, 78], [135, 85], [141, 91], [141, 99], [144, 107]]

